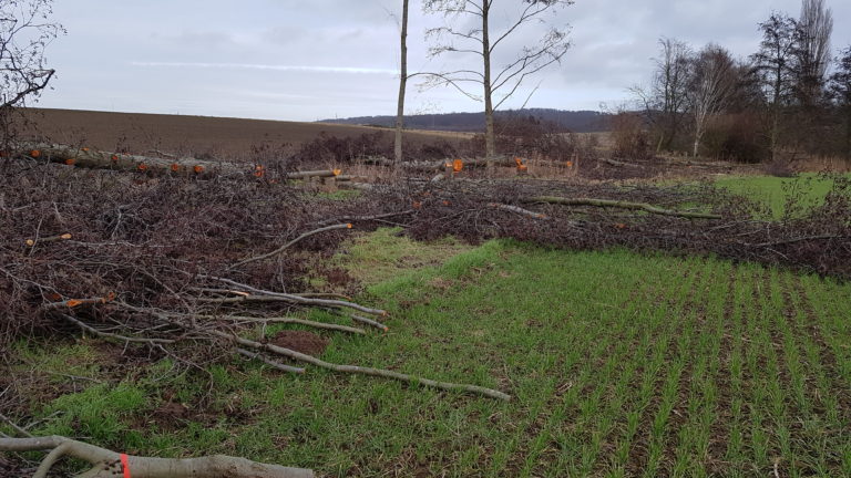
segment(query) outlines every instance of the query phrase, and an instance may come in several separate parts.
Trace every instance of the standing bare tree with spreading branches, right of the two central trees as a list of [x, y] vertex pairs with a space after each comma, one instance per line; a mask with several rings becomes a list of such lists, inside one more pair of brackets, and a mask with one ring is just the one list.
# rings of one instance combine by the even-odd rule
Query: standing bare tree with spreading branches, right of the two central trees
[[[431, 84], [452, 85], [470, 98], [484, 101], [485, 156], [496, 156], [493, 112], [520, 89], [530, 75], [557, 63], [571, 46], [565, 28], [551, 27], [534, 46], [523, 46], [513, 60], [493, 69], [493, 58], [500, 46], [507, 46], [509, 39], [524, 25], [543, 22], [543, 15], [574, 3], [573, 0], [522, 0], [522, 11], [513, 17], [499, 32], [492, 31], [492, 13], [495, 0], [426, 0], [424, 10], [443, 13], [450, 22], [431, 29], [427, 37], [439, 42], [431, 55], [444, 53], [468, 54], [481, 59], [481, 69], [470, 67], [443, 73], [429, 73]], [[472, 19], [472, 27], [462, 27]], [[455, 21], [451, 21], [455, 20]], [[482, 95], [470, 91], [482, 87]], [[494, 96], [496, 97], [494, 100]]]

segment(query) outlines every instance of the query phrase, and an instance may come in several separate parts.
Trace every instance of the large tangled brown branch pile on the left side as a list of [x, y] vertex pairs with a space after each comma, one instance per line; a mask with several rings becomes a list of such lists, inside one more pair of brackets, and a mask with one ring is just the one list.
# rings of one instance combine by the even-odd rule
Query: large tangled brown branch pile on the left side
[[[249, 177], [140, 177], [12, 163], [0, 175], [0, 343], [38, 330], [144, 344], [195, 364], [246, 355], [507, 399], [498, 391], [329, 364], [265, 339], [258, 324], [363, 335], [387, 312], [308, 291], [305, 251], [330, 254], [352, 228], [330, 201]], [[321, 219], [331, 224], [318, 226]], [[334, 311], [351, 325], [290, 316]], [[365, 316], [366, 315], [366, 316]]]

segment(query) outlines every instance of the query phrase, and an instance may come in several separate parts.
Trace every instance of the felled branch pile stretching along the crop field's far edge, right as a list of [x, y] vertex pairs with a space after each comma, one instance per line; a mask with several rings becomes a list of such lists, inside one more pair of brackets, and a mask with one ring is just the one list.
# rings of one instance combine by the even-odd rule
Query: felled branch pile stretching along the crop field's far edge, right
[[761, 219], [770, 217], [765, 206], [711, 185], [455, 180], [370, 194], [385, 211], [413, 207], [414, 215], [398, 221], [417, 239], [452, 235], [472, 242], [513, 238], [570, 249], [716, 254], [851, 278], [851, 181], [833, 181], [823, 205], [790, 210], [779, 221]]

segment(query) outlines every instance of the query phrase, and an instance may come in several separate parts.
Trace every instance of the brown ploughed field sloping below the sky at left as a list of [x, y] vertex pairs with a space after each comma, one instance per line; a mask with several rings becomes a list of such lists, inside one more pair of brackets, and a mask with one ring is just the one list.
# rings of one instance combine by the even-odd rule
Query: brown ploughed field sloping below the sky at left
[[[253, 146], [299, 146], [320, 133], [337, 137], [392, 129], [328, 123], [298, 123], [211, 116], [177, 116], [76, 110], [31, 108], [30, 134], [53, 143], [82, 144], [104, 150], [145, 154], [152, 149], [177, 155], [209, 155], [217, 159], [247, 159]], [[445, 133], [408, 132], [406, 141], [455, 141]]]

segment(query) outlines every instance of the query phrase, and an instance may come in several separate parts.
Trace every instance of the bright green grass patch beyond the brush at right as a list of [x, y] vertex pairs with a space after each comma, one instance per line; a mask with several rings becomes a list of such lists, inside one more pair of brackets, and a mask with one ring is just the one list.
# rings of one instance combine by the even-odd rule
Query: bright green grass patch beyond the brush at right
[[793, 178], [775, 176], [731, 176], [716, 180], [716, 185], [762, 202], [770, 217], [779, 219], [790, 201], [800, 211], [824, 202], [824, 196], [833, 187], [833, 180], [816, 173], [801, 173]]

